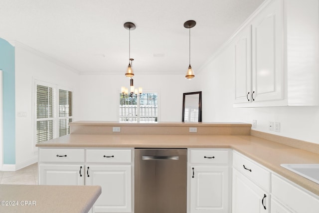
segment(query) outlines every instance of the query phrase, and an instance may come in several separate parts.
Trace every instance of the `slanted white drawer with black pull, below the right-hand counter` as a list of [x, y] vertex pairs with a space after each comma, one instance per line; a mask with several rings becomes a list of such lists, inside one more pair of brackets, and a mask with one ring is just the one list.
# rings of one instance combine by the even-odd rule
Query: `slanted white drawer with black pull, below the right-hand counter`
[[253, 160], [233, 152], [233, 167], [267, 192], [270, 191], [270, 172]]

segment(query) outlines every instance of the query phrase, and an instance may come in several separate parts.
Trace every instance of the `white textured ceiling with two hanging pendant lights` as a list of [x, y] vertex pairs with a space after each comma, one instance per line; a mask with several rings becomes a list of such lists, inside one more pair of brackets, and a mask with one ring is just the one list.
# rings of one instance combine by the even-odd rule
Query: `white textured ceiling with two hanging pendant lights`
[[0, 37], [16, 40], [80, 74], [124, 74], [129, 31], [134, 72], [196, 70], [264, 0], [0, 0]]

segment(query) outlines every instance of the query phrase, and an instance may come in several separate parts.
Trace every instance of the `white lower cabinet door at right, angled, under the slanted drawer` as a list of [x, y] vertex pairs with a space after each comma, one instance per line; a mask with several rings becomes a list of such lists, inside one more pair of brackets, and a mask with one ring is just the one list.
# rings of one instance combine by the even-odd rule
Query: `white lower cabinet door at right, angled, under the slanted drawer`
[[269, 194], [233, 169], [232, 213], [269, 213]]

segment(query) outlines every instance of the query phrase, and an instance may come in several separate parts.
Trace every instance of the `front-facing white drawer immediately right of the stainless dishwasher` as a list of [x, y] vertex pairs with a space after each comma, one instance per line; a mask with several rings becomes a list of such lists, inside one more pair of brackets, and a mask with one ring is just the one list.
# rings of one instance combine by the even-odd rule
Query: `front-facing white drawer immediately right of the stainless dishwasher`
[[228, 164], [228, 150], [190, 150], [191, 164]]

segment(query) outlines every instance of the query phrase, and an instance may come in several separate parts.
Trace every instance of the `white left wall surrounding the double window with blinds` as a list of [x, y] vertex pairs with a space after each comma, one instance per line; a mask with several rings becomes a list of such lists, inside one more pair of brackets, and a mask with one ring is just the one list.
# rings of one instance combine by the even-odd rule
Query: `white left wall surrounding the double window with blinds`
[[[20, 43], [15, 43], [15, 166], [16, 169], [37, 161], [34, 147], [34, 80], [41, 80], [73, 89], [74, 105], [77, 106], [78, 74], [47, 56]], [[18, 116], [18, 112], [25, 117]], [[74, 109], [73, 116], [77, 117]]]

